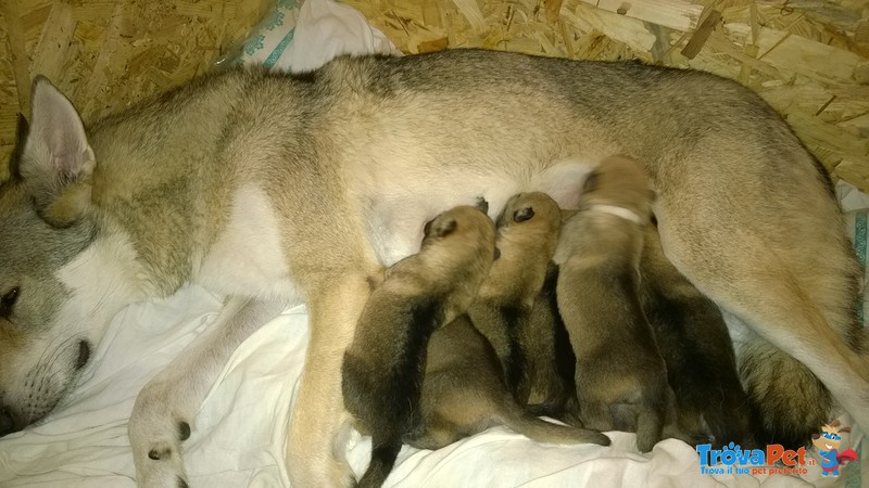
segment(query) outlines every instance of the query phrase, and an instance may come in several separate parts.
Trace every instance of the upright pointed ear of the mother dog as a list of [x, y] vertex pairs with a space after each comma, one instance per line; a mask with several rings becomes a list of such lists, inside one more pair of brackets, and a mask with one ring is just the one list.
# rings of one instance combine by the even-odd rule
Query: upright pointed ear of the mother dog
[[39, 216], [55, 227], [78, 220], [90, 205], [96, 166], [73, 104], [45, 77], [34, 80], [32, 116], [16, 171]]

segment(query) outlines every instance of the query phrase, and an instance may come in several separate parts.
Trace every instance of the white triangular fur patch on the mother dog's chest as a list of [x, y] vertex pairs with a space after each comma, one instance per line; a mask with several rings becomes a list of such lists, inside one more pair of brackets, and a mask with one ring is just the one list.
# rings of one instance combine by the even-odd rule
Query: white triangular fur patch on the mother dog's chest
[[229, 220], [193, 271], [193, 281], [219, 295], [301, 303], [281, 246], [279, 219], [253, 184], [235, 194]]

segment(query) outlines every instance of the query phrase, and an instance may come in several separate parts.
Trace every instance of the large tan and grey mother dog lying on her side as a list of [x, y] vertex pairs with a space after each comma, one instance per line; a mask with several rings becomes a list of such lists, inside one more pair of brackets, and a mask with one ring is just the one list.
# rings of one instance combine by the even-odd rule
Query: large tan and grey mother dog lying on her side
[[444, 209], [483, 197], [496, 216], [536, 190], [571, 208], [610, 154], [645, 163], [667, 256], [750, 325], [743, 370], [767, 434], [807, 440], [828, 420], [823, 385], [869, 425], [858, 266], [829, 181], [734, 82], [451, 51], [212, 75], [87, 129], [45, 79], [32, 106], [0, 188], [3, 434], [51, 411], [122, 307], [196, 282], [225, 309], [140, 393], [138, 483], [185, 483], [181, 441], [223, 362], [303, 300], [287, 463], [294, 485], [347, 486], [341, 360], [370, 283]]

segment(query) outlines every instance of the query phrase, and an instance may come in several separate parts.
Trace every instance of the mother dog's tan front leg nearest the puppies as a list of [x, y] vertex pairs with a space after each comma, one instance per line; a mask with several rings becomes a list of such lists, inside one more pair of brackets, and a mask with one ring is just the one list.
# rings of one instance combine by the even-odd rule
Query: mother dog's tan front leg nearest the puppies
[[345, 446], [336, 445], [344, 413], [341, 364], [370, 294], [369, 275], [355, 271], [318, 281], [307, 287], [311, 339], [290, 420], [287, 465], [293, 486], [345, 487], [352, 472], [343, 459]]

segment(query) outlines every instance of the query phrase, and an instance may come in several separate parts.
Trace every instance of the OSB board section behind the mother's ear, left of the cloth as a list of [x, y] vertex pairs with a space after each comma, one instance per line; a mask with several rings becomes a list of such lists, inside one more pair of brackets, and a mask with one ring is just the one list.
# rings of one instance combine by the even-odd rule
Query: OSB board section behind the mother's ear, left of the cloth
[[92, 120], [203, 73], [269, 3], [0, 0], [0, 178], [34, 76], [48, 76]]

